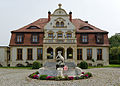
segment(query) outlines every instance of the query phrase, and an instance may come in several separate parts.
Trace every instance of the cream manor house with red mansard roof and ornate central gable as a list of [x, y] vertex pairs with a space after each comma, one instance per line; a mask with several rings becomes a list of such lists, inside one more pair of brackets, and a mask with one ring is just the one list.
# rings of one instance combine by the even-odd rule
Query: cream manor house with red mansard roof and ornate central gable
[[58, 51], [65, 62], [109, 65], [108, 32], [73, 19], [72, 12], [58, 6], [53, 13], [48, 12], [48, 18], [11, 31], [9, 47], [0, 47], [1, 65], [56, 62]]

